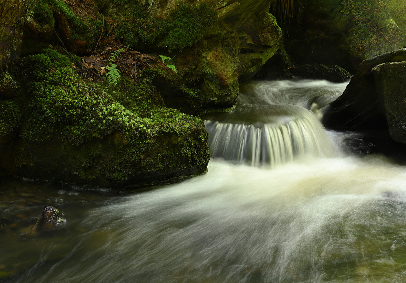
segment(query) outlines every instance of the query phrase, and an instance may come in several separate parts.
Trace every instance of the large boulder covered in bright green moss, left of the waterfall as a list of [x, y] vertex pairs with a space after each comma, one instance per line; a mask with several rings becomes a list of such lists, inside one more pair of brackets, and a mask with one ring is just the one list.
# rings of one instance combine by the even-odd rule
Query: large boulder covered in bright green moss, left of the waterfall
[[148, 79], [91, 83], [52, 49], [8, 70], [18, 89], [0, 101], [2, 176], [122, 188], [206, 172], [203, 122], [166, 108]]

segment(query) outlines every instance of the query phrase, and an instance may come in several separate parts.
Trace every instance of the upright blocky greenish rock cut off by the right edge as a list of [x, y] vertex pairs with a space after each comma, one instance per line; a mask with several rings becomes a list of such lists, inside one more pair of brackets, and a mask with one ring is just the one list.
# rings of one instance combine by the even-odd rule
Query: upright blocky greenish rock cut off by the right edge
[[406, 144], [406, 62], [380, 64], [372, 71], [389, 134], [394, 141]]

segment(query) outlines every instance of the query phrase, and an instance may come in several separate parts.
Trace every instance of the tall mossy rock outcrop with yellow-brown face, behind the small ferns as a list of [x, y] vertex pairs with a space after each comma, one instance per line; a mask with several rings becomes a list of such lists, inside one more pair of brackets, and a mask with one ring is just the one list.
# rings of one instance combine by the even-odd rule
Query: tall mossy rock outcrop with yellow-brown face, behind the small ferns
[[190, 114], [234, 105], [239, 77], [252, 77], [282, 36], [265, 0], [100, 2], [124, 44], [173, 58], [177, 77], [157, 73], [153, 84], [168, 107]]

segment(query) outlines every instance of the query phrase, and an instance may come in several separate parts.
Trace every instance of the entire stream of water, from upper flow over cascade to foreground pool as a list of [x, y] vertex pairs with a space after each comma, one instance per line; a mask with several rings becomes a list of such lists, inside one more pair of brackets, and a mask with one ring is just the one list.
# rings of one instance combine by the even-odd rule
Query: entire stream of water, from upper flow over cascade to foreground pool
[[[112, 195], [2, 182], [0, 282], [404, 282], [405, 167], [352, 156], [355, 133], [308, 129], [345, 85], [245, 86], [233, 114], [205, 117], [219, 154], [208, 173], [179, 184]], [[27, 237], [45, 205], [66, 226]]]

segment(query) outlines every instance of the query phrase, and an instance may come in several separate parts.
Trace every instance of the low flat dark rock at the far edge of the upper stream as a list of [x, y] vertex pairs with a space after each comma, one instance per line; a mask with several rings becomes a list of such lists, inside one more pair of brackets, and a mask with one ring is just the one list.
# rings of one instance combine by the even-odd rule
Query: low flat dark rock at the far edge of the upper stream
[[303, 79], [326, 79], [335, 83], [341, 83], [351, 78], [346, 69], [337, 65], [325, 66], [322, 64], [304, 64], [292, 66], [288, 73]]

